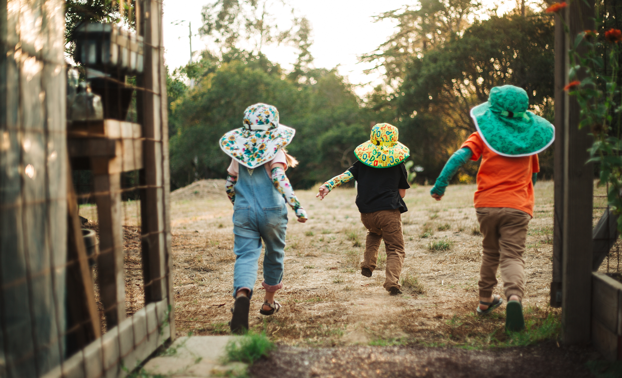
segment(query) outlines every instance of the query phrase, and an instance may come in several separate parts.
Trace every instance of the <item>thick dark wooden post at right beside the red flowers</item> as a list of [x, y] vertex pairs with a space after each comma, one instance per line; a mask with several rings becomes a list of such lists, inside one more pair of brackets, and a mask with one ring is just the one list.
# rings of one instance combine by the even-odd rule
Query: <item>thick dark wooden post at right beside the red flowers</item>
[[[594, 29], [594, 2], [578, 2], [566, 11], [570, 35]], [[566, 40], [566, 51], [569, 47]], [[583, 53], [583, 51], [580, 51]], [[579, 78], [580, 80], [580, 78]], [[578, 129], [579, 106], [565, 96], [564, 207], [562, 218], [562, 339], [564, 343], [590, 341], [592, 308], [592, 194], [593, 165], [586, 164], [592, 145], [590, 130]]]

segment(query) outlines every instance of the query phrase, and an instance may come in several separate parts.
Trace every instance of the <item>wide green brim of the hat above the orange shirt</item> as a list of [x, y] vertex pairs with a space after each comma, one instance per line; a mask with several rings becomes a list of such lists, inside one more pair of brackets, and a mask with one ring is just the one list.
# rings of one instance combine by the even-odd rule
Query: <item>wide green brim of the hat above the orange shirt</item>
[[471, 109], [471, 118], [484, 143], [499, 155], [535, 155], [555, 141], [555, 127], [531, 111], [525, 118], [509, 118], [495, 113], [486, 102]]

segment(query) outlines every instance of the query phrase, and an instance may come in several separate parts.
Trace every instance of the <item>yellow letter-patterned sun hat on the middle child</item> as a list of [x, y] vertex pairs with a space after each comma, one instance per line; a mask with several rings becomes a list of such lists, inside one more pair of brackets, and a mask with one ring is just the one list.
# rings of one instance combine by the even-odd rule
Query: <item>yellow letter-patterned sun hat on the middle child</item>
[[397, 142], [397, 127], [379, 123], [371, 128], [369, 141], [356, 147], [354, 154], [361, 163], [375, 168], [387, 168], [400, 164], [411, 151]]

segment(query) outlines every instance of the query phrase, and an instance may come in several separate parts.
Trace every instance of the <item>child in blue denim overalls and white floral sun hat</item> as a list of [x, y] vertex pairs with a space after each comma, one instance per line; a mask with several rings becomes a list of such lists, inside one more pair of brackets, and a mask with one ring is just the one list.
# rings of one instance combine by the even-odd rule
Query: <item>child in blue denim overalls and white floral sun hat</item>
[[[285, 145], [295, 130], [279, 124], [274, 106], [254, 104], [244, 111], [244, 127], [234, 129], [220, 139], [220, 148], [230, 155], [226, 190], [233, 203], [233, 297], [231, 331], [248, 330], [248, 313], [253, 287], [257, 280], [261, 240], [264, 241], [264, 281], [266, 289], [262, 315], [272, 315], [281, 305], [274, 294], [283, 287], [283, 259], [287, 208], [291, 206], [298, 221], [307, 221], [307, 214], [285, 176], [287, 167], [298, 163], [285, 152]], [[241, 166], [240, 166], [241, 164]]]

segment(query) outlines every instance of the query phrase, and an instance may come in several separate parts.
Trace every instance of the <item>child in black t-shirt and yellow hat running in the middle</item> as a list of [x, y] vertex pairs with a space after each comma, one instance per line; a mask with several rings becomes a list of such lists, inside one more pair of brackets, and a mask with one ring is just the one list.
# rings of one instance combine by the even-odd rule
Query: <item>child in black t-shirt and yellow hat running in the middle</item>
[[371, 277], [378, 262], [378, 248], [384, 239], [386, 247], [386, 279], [384, 288], [390, 295], [401, 294], [399, 276], [404, 264], [404, 235], [402, 213], [408, 211], [404, 196], [408, 173], [404, 160], [409, 149], [397, 142], [397, 127], [388, 123], [376, 124], [371, 129], [369, 141], [356, 147], [358, 161], [346, 172], [323, 183], [316, 197], [323, 200], [331, 190], [342, 183], [356, 180], [356, 206], [361, 212], [361, 222], [367, 229], [361, 274]]

